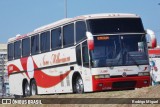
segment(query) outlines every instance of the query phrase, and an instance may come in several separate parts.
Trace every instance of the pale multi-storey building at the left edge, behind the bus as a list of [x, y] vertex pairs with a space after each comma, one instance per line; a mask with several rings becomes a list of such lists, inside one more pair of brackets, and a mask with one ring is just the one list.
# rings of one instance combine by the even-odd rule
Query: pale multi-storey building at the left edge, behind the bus
[[0, 43], [0, 96], [2, 95], [5, 96], [6, 92], [8, 92], [8, 90], [6, 90], [6, 85], [5, 85], [8, 84], [8, 73], [7, 73], [6, 62], [7, 62], [7, 44]]

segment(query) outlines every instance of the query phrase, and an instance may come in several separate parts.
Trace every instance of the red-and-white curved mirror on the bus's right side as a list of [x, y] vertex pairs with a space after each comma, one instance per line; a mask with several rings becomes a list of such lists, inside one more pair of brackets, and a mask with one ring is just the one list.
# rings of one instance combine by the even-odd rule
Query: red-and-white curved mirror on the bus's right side
[[156, 39], [156, 36], [155, 36], [154, 32], [152, 30], [150, 30], [150, 29], [147, 29], [146, 33], [150, 37], [150, 41], [148, 42], [148, 48], [157, 47], [157, 39]]

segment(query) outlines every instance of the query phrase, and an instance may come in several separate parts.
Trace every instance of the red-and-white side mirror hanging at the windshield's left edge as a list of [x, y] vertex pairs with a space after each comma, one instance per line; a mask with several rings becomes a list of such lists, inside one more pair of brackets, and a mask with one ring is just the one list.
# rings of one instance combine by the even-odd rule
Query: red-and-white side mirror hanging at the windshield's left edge
[[88, 49], [89, 50], [94, 50], [94, 38], [91, 32], [86, 32], [87, 36], [87, 43], [88, 43]]

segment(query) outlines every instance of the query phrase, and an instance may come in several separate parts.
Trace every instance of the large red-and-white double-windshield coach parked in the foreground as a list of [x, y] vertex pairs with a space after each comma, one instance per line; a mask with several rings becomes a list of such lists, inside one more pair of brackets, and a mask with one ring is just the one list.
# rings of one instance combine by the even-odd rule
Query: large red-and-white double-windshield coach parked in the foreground
[[146, 32], [135, 14], [66, 18], [8, 40], [10, 93], [18, 96], [147, 87]]

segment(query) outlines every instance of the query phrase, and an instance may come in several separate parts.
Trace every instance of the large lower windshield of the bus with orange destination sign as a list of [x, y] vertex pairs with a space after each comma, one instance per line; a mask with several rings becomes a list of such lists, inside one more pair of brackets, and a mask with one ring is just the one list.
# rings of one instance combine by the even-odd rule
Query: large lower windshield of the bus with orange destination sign
[[95, 36], [92, 67], [111, 67], [148, 64], [144, 34]]

